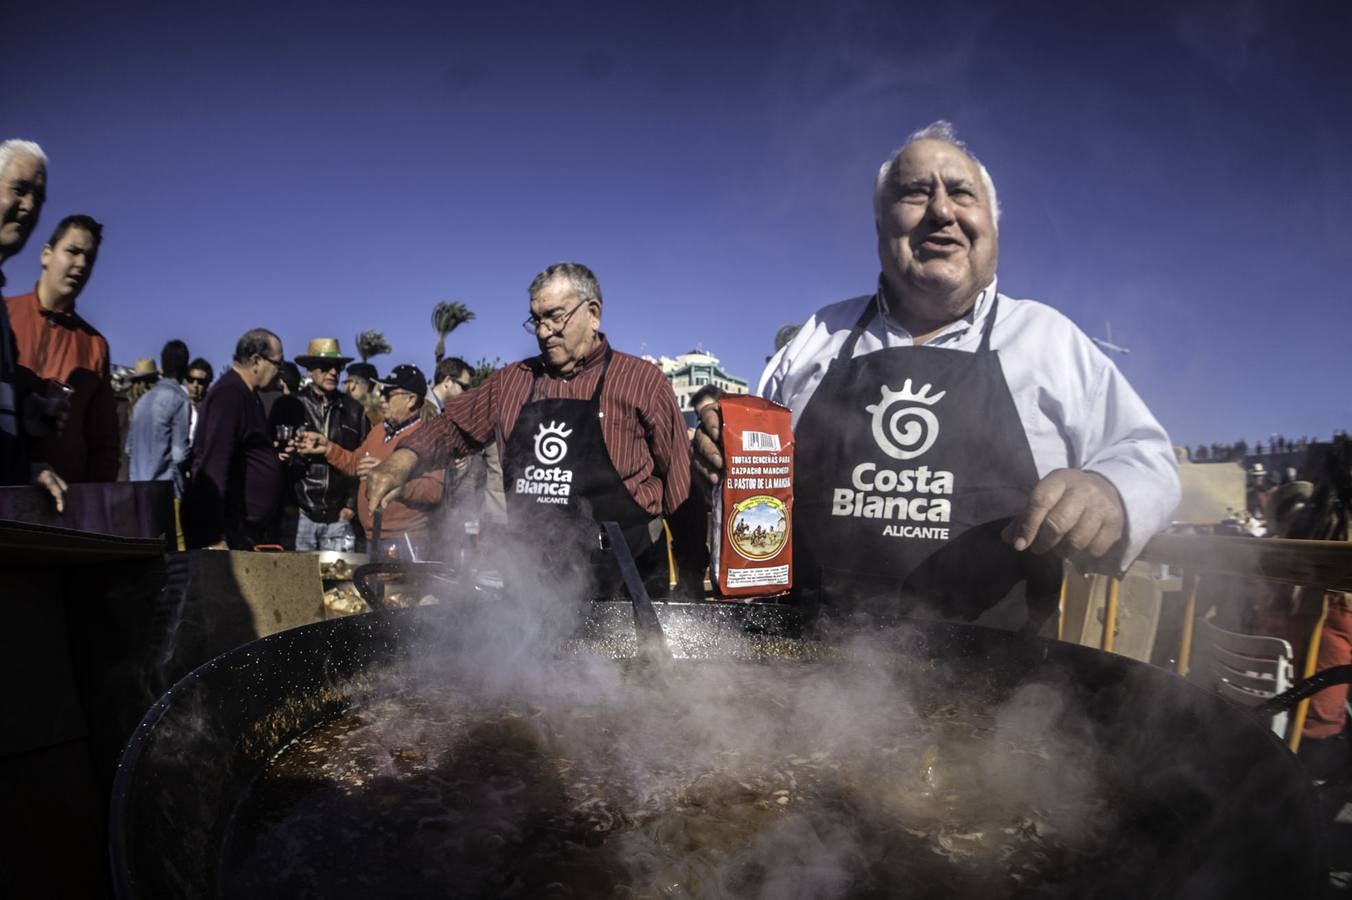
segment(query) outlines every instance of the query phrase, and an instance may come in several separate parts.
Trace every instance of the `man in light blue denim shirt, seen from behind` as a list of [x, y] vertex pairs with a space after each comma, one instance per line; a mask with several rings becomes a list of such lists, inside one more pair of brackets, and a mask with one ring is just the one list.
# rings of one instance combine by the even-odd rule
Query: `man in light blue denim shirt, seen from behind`
[[192, 403], [183, 380], [188, 374], [188, 345], [170, 341], [160, 351], [160, 380], [131, 411], [127, 427], [128, 474], [132, 481], [172, 481], [183, 497], [183, 464], [188, 459], [188, 419]]

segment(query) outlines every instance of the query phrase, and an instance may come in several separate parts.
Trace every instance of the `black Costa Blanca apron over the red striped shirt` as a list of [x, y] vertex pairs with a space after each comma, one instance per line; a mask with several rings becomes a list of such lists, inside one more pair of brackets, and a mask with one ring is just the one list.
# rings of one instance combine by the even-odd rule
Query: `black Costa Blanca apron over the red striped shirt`
[[[600, 392], [606, 386], [612, 351], [606, 349], [596, 391], [589, 400], [535, 399], [539, 377], [507, 436], [503, 488], [511, 531], [572, 539], [544, 542], [542, 551], [576, 547], [576, 536], [591, 553], [598, 596], [622, 592], [619, 570], [608, 550], [600, 549], [602, 522], [617, 522], [625, 532], [639, 572], [652, 576], [662, 554], [653, 545], [653, 515], [638, 505], [615, 470], [602, 435]], [[662, 573], [665, 574], [665, 573]], [[645, 581], [650, 578], [645, 577]]]

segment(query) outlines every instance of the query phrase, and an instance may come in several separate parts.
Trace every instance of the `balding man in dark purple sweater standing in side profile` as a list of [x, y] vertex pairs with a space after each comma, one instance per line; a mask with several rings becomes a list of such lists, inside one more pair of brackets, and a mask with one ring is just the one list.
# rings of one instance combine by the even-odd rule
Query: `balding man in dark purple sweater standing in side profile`
[[253, 550], [276, 539], [281, 461], [258, 391], [276, 384], [283, 362], [281, 338], [246, 331], [201, 401], [184, 500], [189, 547]]

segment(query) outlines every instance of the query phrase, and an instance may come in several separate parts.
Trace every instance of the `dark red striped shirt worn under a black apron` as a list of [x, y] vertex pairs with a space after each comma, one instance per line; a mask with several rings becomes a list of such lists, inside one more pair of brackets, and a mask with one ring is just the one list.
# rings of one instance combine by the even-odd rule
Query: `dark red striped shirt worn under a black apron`
[[[550, 374], [539, 357], [491, 374], [484, 384], [453, 397], [439, 416], [404, 441], [418, 454], [418, 470], [483, 449], [493, 435], [506, 455], [507, 436], [529, 400], [589, 400], [600, 378], [608, 342], [566, 376]], [[690, 495], [690, 443], [676, 393], [661, 370], [627, 353], [614, 353], [600, 392], [602, 438], [629, 493], [653, 515], [672, 514]]]

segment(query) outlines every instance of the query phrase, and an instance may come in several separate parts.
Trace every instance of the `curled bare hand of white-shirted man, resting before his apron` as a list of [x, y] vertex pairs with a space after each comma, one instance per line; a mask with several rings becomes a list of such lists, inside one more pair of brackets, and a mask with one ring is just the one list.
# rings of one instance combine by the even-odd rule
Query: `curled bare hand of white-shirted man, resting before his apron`
[[1126, 511], [1107, 478], [1094, 472], [1057, 469], [1037, 482], [1028, 507], [1000, 536], [1015, 550], [1095, 561], [1122, 538]]

